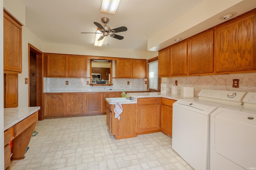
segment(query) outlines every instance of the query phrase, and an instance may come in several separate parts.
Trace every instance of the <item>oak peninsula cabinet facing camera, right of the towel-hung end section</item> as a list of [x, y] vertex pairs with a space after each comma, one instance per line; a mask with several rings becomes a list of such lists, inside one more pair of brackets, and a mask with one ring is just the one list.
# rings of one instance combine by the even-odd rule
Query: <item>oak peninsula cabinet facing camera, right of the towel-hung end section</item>
[[160, 131], [160, 98], [138, 98], [137, 134]]

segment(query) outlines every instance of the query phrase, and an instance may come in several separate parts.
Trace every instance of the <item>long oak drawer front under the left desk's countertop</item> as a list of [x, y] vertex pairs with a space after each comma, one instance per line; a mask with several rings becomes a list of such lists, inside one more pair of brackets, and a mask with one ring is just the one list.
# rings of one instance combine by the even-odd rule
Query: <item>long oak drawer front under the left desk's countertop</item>
[[37, 114], [36, 113], [30, 115], [26, 119], [20, 121], [20, 123], [17, 123], [16, 125], [14, 125], [14, 135], [15, 135], [15, 137], [20, 135], [20, 133], [22, 133], [25, 129], [27, 129], [28, 127], [30, 127], [30, 125], [32, 125], [34, 122], [37, 121]]

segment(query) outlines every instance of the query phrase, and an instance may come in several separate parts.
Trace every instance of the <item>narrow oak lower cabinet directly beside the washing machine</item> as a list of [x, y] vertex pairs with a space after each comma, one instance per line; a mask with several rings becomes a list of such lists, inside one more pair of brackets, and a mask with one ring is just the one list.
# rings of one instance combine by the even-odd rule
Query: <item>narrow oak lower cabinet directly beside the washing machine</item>
[[176, 100], [161, 98], [161, 130], [172, 137], [172, 104]]

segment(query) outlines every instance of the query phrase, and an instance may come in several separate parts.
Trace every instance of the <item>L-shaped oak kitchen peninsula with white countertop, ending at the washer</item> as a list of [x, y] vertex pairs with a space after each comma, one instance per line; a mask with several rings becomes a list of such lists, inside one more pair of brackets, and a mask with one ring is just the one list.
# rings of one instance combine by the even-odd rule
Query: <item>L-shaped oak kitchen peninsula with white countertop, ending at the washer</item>
[[161, 92], [127, 93], [127, 95], [132, 100], [120, 102], [123, 108], [120, 120], [114, 118], [114, 107], [117, 102], [106, 98], [106, 124], [115, 139], [155, 132], [163, 132], [172, 137], [172, 104], [181, 98], [194, 98]]

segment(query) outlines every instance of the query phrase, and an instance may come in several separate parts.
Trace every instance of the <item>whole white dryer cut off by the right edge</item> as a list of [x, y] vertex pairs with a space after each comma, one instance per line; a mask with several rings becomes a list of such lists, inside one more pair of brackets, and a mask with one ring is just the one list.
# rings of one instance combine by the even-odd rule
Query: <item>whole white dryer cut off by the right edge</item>
[[256, 92], [210, 117], [210, 170], [256, 169]]

